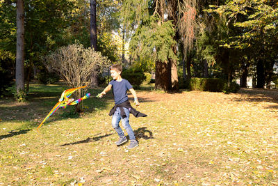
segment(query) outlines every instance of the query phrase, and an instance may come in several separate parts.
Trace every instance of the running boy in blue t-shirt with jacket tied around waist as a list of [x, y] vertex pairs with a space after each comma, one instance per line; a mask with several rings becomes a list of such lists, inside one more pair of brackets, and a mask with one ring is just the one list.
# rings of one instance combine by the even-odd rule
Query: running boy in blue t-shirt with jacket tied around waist
[[113, 115], [112, 125], [120, 137], [120, 139], [115, 142], [115, 144], [117, 146], [120, 146], [127, 141], [126, 137], [124, 136], [124, 132], [119, 125], [120, 120], [122, 119], [122, 125], [127, 134], [129, 134], [129, 139], [131, 141], [127, 148], [134, 148], [138, 146], [138, 142], [136, 141], [136, 137], [131, 128], [131, 125], [129, 125], [129, 113], [131, 112], [131, 114], [136, 117], [145, 117], [147, 115], [142, 114], [131, 107], [129, 98], [127, 97], [126, 93], [127, 90], [132, 93], [136, 106], [138, 106], [140, 103], [138, 101], [136, 92], [134, 91], [129, 81], [127, 81], [126, 79], [122, 79], [122, 66], [119, 64], [115, 64], [112, 65], [110, 69], [111, 77], [113, 77], [113, 80], [108, 84], [108, 86], [106, 86], [106, 88], [104, 88], [104, 91], [99, 93], [98, 97], [102, 98], [102, 96], [104, 96], [108, 91], [111, 90], [111, 88], [113, 88], [115, 106], [111, 109], [109, 116]]

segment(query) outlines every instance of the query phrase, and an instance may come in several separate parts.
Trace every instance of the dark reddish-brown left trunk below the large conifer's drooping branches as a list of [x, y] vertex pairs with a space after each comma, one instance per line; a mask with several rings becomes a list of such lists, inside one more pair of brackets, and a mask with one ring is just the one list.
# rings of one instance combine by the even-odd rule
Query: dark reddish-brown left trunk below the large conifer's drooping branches
[[156, 89], [168, 90], [167, 63], [156, 61]]

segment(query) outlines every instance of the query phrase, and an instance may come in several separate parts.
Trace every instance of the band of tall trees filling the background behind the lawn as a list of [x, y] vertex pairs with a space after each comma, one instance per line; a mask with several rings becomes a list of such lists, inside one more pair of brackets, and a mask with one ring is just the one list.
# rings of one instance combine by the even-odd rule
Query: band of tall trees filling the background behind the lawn
[[[186, 88], [193, 77], [228, 86], [240, 79], [241, 87], [252, 77], [257, 88], [270, 88], [277, 81], [277, 6], [275, 0], [1, 0], [0, 76], [28, 91], [28, 82], [47, 72], [43, 56], [78, 42], [111, 63], [154, 71], [164, 91]], [[1, 93], [9, 83], [1, 82]]]

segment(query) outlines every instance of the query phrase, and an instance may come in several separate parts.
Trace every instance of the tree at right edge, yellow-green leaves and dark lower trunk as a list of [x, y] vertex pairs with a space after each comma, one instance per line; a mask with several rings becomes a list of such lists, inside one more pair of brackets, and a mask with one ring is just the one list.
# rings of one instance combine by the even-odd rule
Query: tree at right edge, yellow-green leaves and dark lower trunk
[[277, 3], [267, 0], [227, 1], [209, 10], [220, 15], [232, 28], [220, 45], [250, 51], [247, 59], [256, 66], [257, 88], [263, 88], [267, 76], [271, 77], [277, 59], [277, 11]]

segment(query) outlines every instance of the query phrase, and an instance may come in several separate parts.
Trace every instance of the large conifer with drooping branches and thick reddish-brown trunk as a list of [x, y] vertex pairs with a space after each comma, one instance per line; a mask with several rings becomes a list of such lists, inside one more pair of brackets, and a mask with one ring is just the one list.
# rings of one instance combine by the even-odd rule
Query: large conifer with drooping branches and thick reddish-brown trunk
[[[177, 43], [179, 40], [184, 41], [183, 49], [181, 49], [184, 52], [192, 47], [196, 28], [195, 6], [196, 1], [194, 0], [143, 2], [129, 0], [123, 3], [122, 17], [124, 17], [124, 23], [129, 25], [126, 29], [140, 30], [136, 31], [133, 38], [142, 38], [142, 40], [135, 39], [138, 40], [138, 46], [133, 47], [132, 52], [136, 53], [133, 56], [135, 59], [140, 59], [145, 56], [144, 51], [149, 50], [152, 56], [157, 57], [153, 58], [156, 63], [156, 88], [163, 88], [165, 91], [177, 91], [179, 89]], [[148, 33], [152, 34], [153, 38], [159, 38], [159, 41], [148, 42], [144, 38]], [[165, 38], [161, 37], [162, 35], [167, 36]], [[167, 43], [167, 48], [161, 48], [161, 42]], [[164, 49], [163, 57], [156, 55], [157, 53], [161, 54], [159, 49]], [[156, 54], [152, 54], [152, 52]]]

